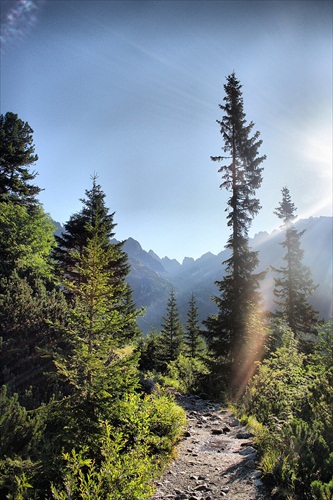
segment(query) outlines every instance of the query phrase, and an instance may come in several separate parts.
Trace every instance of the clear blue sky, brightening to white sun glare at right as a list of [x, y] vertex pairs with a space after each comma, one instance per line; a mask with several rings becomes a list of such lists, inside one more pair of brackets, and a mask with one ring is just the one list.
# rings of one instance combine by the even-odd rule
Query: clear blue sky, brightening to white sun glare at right
[[116, 237], [182, 261], [226, 243], [225, 78], [266, 154], [250, 235], [332, 215], [331, 1], [1, 1], [0, 111], [34, 130], [40, 199], [66, 222], [96, 172]]

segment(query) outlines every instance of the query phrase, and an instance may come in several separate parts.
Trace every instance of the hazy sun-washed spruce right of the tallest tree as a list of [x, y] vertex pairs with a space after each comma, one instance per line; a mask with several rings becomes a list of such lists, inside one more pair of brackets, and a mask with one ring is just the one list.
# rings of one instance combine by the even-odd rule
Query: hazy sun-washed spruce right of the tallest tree
[[301, 238], [304, 231], [294, 226], [296, 207], [292, 203], [289, 189], [282, 189], [282, 201], [275, 214], [283, 221], [285, 239], [282, 246], [286, 250], [283, 259], [286, 263], [279, 269], [273, 268], [279, 275], [274, 279], [274, 295], [277, 309], [275, 315], [282, 318], [296, 334], [313, 333], [318, 322], [317, 312], [309, 304], [308, 299], [317, 288], [312, 280], [310, 269], [305, 266]]

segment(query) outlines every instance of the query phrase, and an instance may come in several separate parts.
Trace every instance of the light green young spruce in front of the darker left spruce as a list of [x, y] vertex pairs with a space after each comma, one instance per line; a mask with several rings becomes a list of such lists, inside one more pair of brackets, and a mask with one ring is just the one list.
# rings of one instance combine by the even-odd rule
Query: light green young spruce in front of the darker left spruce
[[[72, 293], [68, 326], [62, 329], [66, 349], [54, 355], [60, 379], [67, 383], [70, 399], [65, 402], [70, 425], [78, 443], [94, 438], [101, 420], [110, 420], [115, 404], [138, 384], [137, 355], [129, 344], [128, 325], [137, 312], [124, 315], [118, 307], [120, 288], [114, 284], [117, 257], [115, 245], [105, 245], [99, 220], [87, 225], [90, 237], [82, 252], [73, 251], [73, 275], [64, 277], [65, 290]], [[73, 279], [80, 275], [81, 279]], [[66, 432], [67, 432], [66, 431]]]

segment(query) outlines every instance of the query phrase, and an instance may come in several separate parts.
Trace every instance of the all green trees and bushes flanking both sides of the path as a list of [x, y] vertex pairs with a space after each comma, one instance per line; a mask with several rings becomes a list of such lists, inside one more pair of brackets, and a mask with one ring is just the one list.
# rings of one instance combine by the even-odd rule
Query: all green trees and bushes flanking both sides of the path
[[201, 324], [174, 291], [144, 335], [124, 242], [93, 175], [61, 235], [38, 200], [33, 130], [0, 116], [0, 498], [149, 498], [185, 425], [174, 392], [232, 404], [253, 430], [272, 498], [333, 497], [333, 332], [310, 305], [297, 208], [281, 186], [284, 264], [262, 306], [248, 232], [260, 210], [262, 141], [227, 77], [218, 121], [230, 257]]

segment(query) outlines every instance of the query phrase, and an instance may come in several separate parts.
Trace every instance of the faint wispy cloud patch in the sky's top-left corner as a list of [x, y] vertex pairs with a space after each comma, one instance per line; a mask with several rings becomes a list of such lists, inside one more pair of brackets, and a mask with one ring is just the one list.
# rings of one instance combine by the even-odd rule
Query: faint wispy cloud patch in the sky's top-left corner
[[1, 3], [1, 51], [11, 42], [24, 38], [37, 22], [37, 13], [45, 0], [19, 0]]

